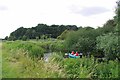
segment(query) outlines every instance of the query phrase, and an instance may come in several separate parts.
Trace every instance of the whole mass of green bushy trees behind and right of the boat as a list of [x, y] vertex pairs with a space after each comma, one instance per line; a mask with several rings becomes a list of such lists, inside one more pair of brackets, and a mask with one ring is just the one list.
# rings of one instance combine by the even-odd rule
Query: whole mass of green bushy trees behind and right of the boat
[[91, 53], [94, 56], [105, 56], [107, 59], [119, 59], [118, 34], [115, 19], [108, 20], [103, 27], [80, 28], [68, 34], [64, 46], [67, 51]]

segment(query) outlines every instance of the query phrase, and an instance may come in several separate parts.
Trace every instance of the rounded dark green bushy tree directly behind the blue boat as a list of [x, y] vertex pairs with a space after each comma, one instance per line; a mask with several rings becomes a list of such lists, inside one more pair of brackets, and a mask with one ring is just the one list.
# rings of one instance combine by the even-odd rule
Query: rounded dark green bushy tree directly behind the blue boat
[[78, 31], [69, 33], [65, 39], [65, 46], [69, 51], [92, 52], [95, 48], [96, 36], [95, 29], [90, 27], [81, 28]]

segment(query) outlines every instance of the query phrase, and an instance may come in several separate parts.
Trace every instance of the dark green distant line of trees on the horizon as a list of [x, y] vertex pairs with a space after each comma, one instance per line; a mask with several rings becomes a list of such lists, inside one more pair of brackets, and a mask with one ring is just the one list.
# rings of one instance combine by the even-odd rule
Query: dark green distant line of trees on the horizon
[[41, 38], [43, 35], [49, 38], [57, 38], [65, 30], [77, 30], [78, 27], [75, 25], [51, 25], [38, 24], [36, 27], [24, 28], [20, 27], [13, 31], [8, 40], [22, 40], [25, 36], [27, 39]]

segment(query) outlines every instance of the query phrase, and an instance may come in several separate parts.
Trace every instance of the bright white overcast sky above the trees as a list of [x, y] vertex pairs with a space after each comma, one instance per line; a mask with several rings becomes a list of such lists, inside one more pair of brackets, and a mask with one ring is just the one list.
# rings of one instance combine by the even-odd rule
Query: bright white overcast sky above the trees
[[76, 25], [102, 27], [115, 16], [117, 0], [0, 0], [0, 38], [19, 27]]

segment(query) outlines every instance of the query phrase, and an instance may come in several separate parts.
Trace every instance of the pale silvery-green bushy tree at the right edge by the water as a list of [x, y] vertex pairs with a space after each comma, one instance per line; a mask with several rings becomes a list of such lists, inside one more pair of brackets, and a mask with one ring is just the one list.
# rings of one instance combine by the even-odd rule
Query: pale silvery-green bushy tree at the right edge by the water
[[97, 37], [96, 48], [103, 50], [107, 59], [116, 59], [119, 56], [118, 36], [113, 33]]

